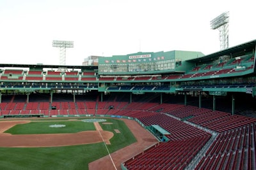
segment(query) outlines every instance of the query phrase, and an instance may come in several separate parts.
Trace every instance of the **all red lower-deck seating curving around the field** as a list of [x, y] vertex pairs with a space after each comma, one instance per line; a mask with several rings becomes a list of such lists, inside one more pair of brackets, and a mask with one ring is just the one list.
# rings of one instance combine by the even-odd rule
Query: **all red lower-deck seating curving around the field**
[[[56, 106], [52, 110], [50, 106]], [[108, 106], [113, 106], [109, 109]], [[145, 106], [143, 108], [143, 106]], [[98, 108], [97, 108], [98, 107]], [[211, 134], [178, 118], [218, 134], [195, 169], [255, 169], [256, 119], [180, 104], [127, 102], [1, 103], [0, 115], [119, 115], [143, 125], [159, 125], [170, 140], [152, 146], [124, 162], [127, 169], [184, 169], [209, 141]], [[176, 118], [173, 118], [176, 117]]]

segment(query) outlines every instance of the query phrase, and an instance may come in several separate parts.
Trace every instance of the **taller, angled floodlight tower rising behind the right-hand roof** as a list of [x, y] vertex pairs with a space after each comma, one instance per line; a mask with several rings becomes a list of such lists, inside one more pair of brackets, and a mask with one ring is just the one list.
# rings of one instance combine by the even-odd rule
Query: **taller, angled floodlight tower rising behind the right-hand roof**
[[211, 29], [220, 31], [220, 50], [228, 48], [228, 22], [229, 12], [221, 13], [221, 15], [211, 20]]

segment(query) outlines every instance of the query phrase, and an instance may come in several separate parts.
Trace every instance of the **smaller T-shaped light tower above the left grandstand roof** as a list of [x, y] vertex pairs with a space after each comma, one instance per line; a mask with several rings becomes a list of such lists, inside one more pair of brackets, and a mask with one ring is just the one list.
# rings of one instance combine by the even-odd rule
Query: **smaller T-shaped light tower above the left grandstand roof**
[[66, 48], [73, 48], [74, 41], [53, 40], [52, 46], [60, 48], [60, 65], [65, 66], [66, 65]]

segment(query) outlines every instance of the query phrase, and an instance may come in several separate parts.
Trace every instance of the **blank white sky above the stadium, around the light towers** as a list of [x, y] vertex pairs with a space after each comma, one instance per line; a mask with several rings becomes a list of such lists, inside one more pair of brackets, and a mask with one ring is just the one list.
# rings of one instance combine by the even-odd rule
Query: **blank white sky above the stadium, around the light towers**
[[74, 41], [66, 64], [89, 55], [220, 50], [210, 21], [230, 12], [230, 47], [256, 39], [255, 0], [0, 0], [0, 63], [60, 64], [52, 40]]

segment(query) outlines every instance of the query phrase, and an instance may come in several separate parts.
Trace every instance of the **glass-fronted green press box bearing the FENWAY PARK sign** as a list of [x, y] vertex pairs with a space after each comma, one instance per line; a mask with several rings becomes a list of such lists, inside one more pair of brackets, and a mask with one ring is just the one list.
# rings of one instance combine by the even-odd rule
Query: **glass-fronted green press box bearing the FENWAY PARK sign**
[[[99, 58], [99, 75], [156, 74], [184, 71], [182, 62], [204, 56], [201, 52], [170, 51], [156, 53], [132, 53]], [[185, 66], [184, 66], [185, 65]], [[186, 71], [185, 69], [185, 71]]]

